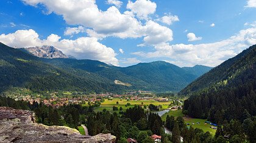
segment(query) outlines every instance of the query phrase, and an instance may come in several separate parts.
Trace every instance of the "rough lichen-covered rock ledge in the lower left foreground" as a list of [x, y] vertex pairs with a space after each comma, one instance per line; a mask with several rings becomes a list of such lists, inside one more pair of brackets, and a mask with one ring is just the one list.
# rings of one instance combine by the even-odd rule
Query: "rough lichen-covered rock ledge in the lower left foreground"
[[0, 107], [0, 142], [115, 142], [111, 134], [80, 135], [79, 131], [63, 126], [35, 123], [32, 111]]

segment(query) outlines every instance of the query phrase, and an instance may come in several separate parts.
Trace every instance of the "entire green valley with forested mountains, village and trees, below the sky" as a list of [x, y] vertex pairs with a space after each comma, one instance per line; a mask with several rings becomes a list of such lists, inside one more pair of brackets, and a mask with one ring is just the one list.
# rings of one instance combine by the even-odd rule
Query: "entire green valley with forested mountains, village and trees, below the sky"
[[1, 44], [0, 106], [32, 110], [40, 124], [111, 133], [118, 141], [254, 141], [255, 49], [215, 68], [163, 61], [116, 67], [37, 58]]

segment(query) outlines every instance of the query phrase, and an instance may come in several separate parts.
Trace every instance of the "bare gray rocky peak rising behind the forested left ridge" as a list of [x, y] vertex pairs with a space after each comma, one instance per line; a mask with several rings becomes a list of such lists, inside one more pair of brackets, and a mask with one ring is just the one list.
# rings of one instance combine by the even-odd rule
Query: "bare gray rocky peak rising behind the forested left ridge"
[[34, 56], [38, 56], [40, 58], [68, 58], [62, 51], [54, 48], [53, 46], [43, 45], [42, 47], [29, 47], [25, 48], [27, 52], [32, 53]]

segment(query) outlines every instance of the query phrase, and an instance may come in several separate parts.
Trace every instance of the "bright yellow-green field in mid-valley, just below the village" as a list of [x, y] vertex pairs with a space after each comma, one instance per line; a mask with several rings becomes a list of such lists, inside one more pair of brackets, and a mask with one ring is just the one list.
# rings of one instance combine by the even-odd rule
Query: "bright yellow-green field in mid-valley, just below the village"
[[[119, 104], [116, 104], [116, 102], [119, 102]], [[165, 110], [166, 108], [168, 108], [169, 104], [171, 104], [171, 102], [158, 102], [158, 101], [127, 101], [126, 99], [123, 99], [121, 101], [121, 99], [115, 98], [113, 100], [108, 100], [105, 99], [104, 102], [101, 103], [100, 107], [94, 108], [94, 111], [102, 111], [104, 108], [106, 108], [108, 111], [113, 111], [112, 108], [113, 106], [118, 107], [118, 109], [120, 107], [123, 108], [123, 111], [125, 111], [127, 108], [130, 107], [134, 107], [134, 105], [141, 105], [141, 102], [143, 102], [143, 105], [149, 105], [149, 104], [154, 104], [154, 105], [162, 105], [162, 109], [161, 110]], [[126, 104], [130, 103], [130, 106], [126, 107]]]

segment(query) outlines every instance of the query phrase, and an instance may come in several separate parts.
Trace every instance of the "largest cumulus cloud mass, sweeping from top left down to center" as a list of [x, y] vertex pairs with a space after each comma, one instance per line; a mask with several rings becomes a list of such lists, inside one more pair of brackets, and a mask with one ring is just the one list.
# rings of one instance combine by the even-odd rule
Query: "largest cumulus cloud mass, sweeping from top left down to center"
[[[88, 27], [85, 32], [90, 37], [98, 39], [108, 36], [118, 38], [144, 38], [144, 44], [160, 44], [166, 39], [172, 41], [172, 30], [153, 21], [141, 23], [137, 18], [147, 19], [155, 13], [157, 5], [149, 0], [129, 1], [127, 8], [130, 11], [120, 13], [115, 6], [109, 7], [106, 11], [99, 10], [96, 1], [92, 0], [22, 0], [25, 4], [32, 6], [44, 5], [48, 13], [62, 15], [67, 24], [82, 25]], [[155, 25], [156, 28], [152, 27]], [[151, 32], [149, 28], [157, 30]], [[77, 31], [76, 29], [72, 29]], [[72, 33], [71, 32], [71, 33]], [[157, 33], [157, 35], [153, 35]], [[159, 38], [160, 37], [160, 38]], [[154, 42], [150, 42], [153, 39]], [[157, 43], [158, 42], [158, 43]]]

